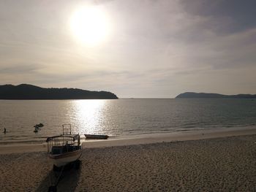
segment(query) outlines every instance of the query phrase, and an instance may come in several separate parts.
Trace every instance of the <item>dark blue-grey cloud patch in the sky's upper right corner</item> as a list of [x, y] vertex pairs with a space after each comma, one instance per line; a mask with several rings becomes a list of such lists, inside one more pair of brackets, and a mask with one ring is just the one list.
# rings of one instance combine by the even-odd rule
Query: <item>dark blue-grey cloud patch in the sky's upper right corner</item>
[[181, 0], [186, 12], [204, 18], [214, 18], [218, 32], [236, 33], [256, 27], [256, 1], [253, 0]]

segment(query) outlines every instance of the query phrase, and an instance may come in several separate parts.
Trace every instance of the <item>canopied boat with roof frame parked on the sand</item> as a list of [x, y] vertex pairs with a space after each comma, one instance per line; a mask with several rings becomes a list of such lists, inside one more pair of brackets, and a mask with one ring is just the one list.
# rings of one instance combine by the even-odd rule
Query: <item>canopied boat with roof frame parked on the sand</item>
[[54, 166], [58, 167], [76, 161], [82, 155], [80, 135], [71, 134], [70, 124], [64, 124], [62, 128], [63, 134], [46, 139], [48, 144], [48, 158], [50, 161], [53, 161]]

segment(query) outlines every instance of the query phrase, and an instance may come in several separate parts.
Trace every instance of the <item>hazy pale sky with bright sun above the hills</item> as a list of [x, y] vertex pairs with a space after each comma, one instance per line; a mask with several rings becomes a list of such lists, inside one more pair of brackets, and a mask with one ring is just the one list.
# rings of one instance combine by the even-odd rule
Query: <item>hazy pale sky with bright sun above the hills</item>
[[[101, 20], [95, 42], [85, 40], [94, 24], [71, 24], [81, 7], [103, 15], [80, 18]], [[0, 84], [119, 98], [256, 93], [255, 7], [255, 0], [0, 0]]]

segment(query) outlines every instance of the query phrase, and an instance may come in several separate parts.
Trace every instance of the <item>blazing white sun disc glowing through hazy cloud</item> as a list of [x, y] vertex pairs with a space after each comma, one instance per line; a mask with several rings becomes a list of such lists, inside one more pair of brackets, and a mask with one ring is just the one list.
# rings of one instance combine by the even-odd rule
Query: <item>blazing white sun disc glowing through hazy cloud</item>
[[73, 13], [70, 26], [78, 42], [86, 45], [104, 41], [110, 31], [107, 15], [100, 7], [80, 7]]

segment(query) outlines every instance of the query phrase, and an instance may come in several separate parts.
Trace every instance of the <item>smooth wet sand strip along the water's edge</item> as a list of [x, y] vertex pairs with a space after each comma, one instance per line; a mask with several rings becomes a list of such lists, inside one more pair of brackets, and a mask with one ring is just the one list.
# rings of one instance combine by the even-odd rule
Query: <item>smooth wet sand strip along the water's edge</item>
[[[161, 142], [178, 142], [201, 139], [214, 139], [234, 136], [256, 135], [256, 127], [211, 129], [201, 131], [178, 131], [173, 133], [139, 134], [124, 137], [110, 137], [107, 140], [85, 140], [82, 142], [83, 149], [116, 147], [127, 145], [143, 145]], [[12, 144], [0, 145], [0, 154], [46, 152], [47, 144]]]

